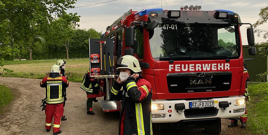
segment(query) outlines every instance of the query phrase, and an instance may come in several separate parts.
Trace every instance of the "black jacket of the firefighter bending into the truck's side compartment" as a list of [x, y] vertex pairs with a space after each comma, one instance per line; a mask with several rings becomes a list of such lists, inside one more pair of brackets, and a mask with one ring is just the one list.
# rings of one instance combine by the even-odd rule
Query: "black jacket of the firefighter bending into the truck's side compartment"
[[94, 79], [91, 79], [90, 71], [85, 73], [80, 88], [91, 94], [95, 94], [100, 89], [98, 83]]

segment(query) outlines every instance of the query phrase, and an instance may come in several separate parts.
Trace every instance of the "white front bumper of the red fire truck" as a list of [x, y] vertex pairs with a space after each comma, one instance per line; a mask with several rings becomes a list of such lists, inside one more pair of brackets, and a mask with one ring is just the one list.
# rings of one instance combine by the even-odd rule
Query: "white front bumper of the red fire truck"
[[[191, 119], [204, 119], [204, 118], [235, 118], [240, 117], [245, 114], [246, 104], [240, 106], [234, 106], [234, 101], [236, 99], [245, 98], [244, 96], [231, 96], [227, 98], [212, 98], [212, 99], [202, 99], [202, 100], [153, 100], [152, 103], [161, 103], [164, 105], [164, 110], [152, 110], [152, 115], [154, 114], [165, 114], [165, 118], [152, 118], [153, 123], [169, 123], [169, 122], [179, 122], [182, 120]], [[189, 109], [189, 102], [200, 102], [200, 101], [214, 101], [214, 108], [197, 108]], [[229, 102], [229, 107], [222, 109], [219, 107], [219, 102], [227, 101]], [[184, 103], [185, 109], [183, 113], [178, 113], [175, 109], [175, 104]], [[244, 109], [240, 113], [234, 113], [234, 109]]]

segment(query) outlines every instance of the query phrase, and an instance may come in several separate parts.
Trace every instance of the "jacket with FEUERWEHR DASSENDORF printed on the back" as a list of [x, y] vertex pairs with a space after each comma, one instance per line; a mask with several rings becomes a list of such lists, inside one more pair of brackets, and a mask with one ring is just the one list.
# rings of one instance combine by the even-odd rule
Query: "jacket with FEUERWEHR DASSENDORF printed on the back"
[[50, 73], [40, 82], [40, 87], [46, 88], [46, 103], [59, 104], [64, 102], [64, 93], [69, 86], [69, 81], [59, 73]]

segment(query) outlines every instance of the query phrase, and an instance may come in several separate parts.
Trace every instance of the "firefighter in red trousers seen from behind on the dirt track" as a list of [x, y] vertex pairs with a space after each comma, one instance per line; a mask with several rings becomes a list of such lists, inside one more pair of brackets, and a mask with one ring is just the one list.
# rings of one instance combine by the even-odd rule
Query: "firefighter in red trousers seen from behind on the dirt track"
[[46, 129], [50, 131], [53, 122], [53, 135], [61, 133], [60, 123], [63, 116], [64, 89], [69, 86], [69, 81], [60, 76], [60, 68], [56, 64], [50, 68], [49, 76], [40, 82], [40, 87], [46, 88]]

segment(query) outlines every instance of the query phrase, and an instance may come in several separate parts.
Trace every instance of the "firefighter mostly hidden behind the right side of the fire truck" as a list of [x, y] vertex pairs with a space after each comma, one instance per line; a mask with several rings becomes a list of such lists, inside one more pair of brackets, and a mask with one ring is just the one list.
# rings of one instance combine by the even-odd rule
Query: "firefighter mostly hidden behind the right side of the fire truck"
[[[246, 64], [244, 64], [244, 74], [246, 74], [246, 83], [249, 81], [250, 77], [249, 77], [249, 73], [247, 71], [246, 68]], [[244, 94], [244, 96], [246, 97], [246, 101], [249, 100], [250, 101], [250, 95], [248, 93], [248, 86], [246, 84], [246, 92]], [[240, 122], [241, 122], [241, 128], [246, 128], [246, 121], [247, 121], [247, 108], [245, 108], [245, 114], [242, 115], [240, 117]], [[238, 120], [231, 120], [231, 124], [228, 125], [228, 127], [234, 127], [234, 126], [238, 126]]]

